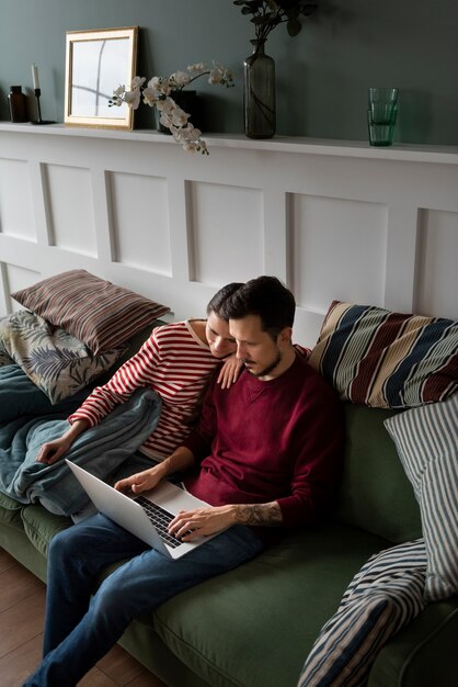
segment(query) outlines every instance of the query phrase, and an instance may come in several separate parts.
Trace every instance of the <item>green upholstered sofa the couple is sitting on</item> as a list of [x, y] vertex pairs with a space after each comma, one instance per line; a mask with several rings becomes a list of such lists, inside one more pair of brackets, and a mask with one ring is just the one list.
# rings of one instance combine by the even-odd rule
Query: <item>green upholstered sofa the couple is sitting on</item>
[[[390, 412], [345, 406], [335, 516], [138, 618], [121, 644], [172, 687], [296, 687], [324, 622], [368, 556], [422, 536], [420, 510], [383, 427]], [[50, 539], [71, 526], [0, 497], [0, 545], [42, 579]], [[369, 687], [458, 682], [458, 597], [431, 604], [377, 655]]]

